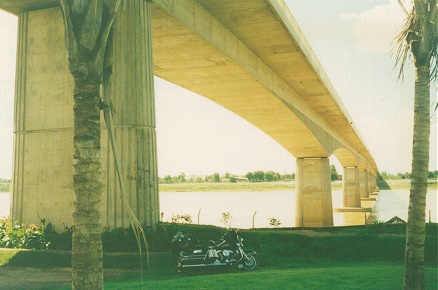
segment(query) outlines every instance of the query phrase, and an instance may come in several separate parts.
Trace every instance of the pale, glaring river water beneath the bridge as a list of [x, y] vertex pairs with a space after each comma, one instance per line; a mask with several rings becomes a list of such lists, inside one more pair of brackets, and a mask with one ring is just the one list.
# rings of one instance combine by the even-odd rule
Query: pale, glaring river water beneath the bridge
[[[334, 208], [342, 207], [342, 191], [332, 191]], [[0, 192], [0, 217], [9, 215], [10, 194]], [[230, 213], [231, 226], [236, 228], [269, 227], [269, 219], [281, 221], [281, 227], [295, 223], [295, 192], [227, 191], [227, 192], [161, 192], [160, 210], [163, 221], [172, 216], [189, 214], [194, 224], [224, 226], [222, 213]], [[387, 221], [394, 216], [408, 217], [409, 190], [381, 190], [372, 213], [333, 213], [334, 225], [363, 225], [365, 219]], [[363, 207], [367, 207], [364, 206]], [[437, 222], [437, 191], [428, 190], [426, 221]]]

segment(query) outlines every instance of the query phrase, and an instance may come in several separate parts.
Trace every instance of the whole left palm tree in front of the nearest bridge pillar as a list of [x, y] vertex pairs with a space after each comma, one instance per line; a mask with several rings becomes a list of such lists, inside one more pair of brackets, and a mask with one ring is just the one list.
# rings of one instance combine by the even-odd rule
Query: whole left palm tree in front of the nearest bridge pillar
[[103, 289], [100, 86], [108, 35], [121, 0], [60, 0], [74, 78], [73, 289]]

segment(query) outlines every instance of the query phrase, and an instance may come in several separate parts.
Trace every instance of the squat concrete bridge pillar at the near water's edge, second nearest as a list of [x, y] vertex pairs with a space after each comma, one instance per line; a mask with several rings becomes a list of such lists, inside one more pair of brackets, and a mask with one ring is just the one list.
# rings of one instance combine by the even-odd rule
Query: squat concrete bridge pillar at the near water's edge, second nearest
[[333, 226], [328, 158], [297, 159], [295, 226]]

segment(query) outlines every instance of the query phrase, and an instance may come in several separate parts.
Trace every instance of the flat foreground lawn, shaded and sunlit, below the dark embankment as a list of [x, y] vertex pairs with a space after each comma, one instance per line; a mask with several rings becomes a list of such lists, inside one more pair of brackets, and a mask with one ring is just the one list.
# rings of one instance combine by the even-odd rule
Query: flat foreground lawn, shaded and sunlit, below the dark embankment
[[[69, 267], [70, 253], [0, 249], [0, 261], [3, 267], [62, 268]], [[105, 281], [105, 289], [402, 289], [404, 271], [402, 262], [289, 258], [277, 265], [259, 261], [260, 267], [252, 272], [177, 273], [168, 253], [151, 253], [151, 267], [143, 271], [142, 283], [138, 254], [108, 253], [104, 261], [106, 269], [130, 270]], [[437, 272], [436, 265], [426, 266], [426, 289], [436, 289]]]

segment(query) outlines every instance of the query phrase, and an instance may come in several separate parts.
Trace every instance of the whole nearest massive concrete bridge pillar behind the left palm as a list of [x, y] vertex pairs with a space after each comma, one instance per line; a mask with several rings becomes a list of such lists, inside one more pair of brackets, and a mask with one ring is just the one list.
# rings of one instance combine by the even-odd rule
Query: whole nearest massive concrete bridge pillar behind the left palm
[[[115, 21], [109, 93], [128, 200], [140, 222], [159, 221], [149, 2], [126, 1]], [[103, 120], [103, 117], [102, 117]], [[11, 219], [62, 231], [73, 223], [73, 78], [59, 8], [19, 15]], [[102, 121], [103, 122], [103, 121]], [[102, 226], [129, 219], [102, 123]]]

